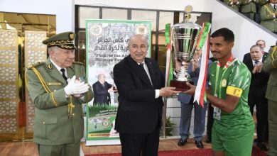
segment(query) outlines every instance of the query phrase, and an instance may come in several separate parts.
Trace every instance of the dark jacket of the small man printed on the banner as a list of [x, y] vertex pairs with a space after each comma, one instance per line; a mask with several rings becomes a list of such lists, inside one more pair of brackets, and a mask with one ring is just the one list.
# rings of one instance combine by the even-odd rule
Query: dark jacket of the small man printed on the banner
[[92, 84], [94, 92], [93, 104], [110, 104], [111, 96], [109, 95], [108, 89], [112, 87], [112, 84], [104, 82], [104, 86], [100, 82]]

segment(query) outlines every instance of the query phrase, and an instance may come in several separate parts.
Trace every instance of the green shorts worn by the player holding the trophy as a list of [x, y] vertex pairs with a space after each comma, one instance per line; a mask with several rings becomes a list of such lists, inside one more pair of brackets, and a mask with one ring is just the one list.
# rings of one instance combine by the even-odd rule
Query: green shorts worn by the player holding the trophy
[[228, 135], [218, 133], [212, 128], [212, 150], [224, 151], [226, 156], [250, 156], [254, 138], [253, 130]]

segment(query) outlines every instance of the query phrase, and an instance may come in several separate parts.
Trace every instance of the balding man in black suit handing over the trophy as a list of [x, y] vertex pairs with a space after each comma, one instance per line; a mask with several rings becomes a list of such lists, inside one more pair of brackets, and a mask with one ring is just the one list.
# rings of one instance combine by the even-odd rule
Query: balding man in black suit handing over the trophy
[[146, 58], [148, 44], [143, 35], [129, 40], [130, 55], [114, 66], [119, 92], [115, 129], [123, 156], [158, 155], [163, 108], [162, 96], [180, 91], [164, 87], [163, 74], [155, 60]]

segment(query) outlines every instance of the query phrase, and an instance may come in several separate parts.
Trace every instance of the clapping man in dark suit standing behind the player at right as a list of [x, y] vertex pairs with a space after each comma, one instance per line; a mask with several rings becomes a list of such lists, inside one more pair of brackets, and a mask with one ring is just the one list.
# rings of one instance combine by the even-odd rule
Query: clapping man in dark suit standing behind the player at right
[[254, 106], [256, 105], [256, 118], [257, 118], [257, 146], [261, 150], [268, 150], [264, 142], [268, 134], [268, 101], [265, 97], [266, 86], [268, 82], [268, 73], [262, 70], [266, 53], [259, 45], [253, 45], [250, 48], [251, 60], [244, 62], [249, 71], [251, 72], [251, 84], [248, 95], [248, 104], [250, 112], [253, 115]]

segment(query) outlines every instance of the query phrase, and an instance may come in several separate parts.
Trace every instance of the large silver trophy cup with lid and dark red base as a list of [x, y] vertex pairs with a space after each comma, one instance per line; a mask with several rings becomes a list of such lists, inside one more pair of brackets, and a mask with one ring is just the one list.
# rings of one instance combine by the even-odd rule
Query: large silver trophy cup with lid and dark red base
[[173, 41], [174, 54], [177, 60], [181, 62], [180, 71], [176, 75], [176, 79], [170, 81], [170, 87], [175, 87], [178, 91], [186, 91], [190, 89], [186, 82], [191, 82], [190, 74], [185, 64], [190, 64], [195, 54], [197, 40], [201, 26], [190, 22], [192, 6], [185, 6], [185, 17], [182, 23], [174, 24], [171, 28], [171, 39]]

